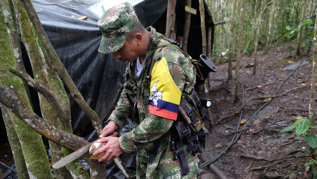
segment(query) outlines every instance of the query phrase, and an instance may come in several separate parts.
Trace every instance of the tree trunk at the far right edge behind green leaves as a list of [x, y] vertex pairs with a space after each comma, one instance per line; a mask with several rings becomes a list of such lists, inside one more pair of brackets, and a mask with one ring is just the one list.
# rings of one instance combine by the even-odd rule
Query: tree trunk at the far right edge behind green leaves
[[[312, 86], [310, 88], [309, 98], [309, 125], [315, 126], [315, 96], [316, 96], [316, 76], [317, 76], [317, 18], [315, 19], [314, 38], [313, 38], [313, 72], [312, 72]], [[310, 133], [315, 135], [315, 129], [310, 128]], [[316, 160], [317, 154], [316, 149], [311, 148], [313, 151], [313, 159]]]

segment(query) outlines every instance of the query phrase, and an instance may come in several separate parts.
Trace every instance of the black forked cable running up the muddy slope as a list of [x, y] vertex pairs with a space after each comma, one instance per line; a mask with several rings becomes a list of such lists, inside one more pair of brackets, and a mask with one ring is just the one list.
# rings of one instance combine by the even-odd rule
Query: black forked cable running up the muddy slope
[[[276, 95], [276, 94], [279, 92], [281, 86], [282, 86], [282, 85], [285, 83], [285, 81], [295, 72], [295, 70], [303, 63], [303, 61], [304, 61], [305, 59], [307, 59], [307, 57], [309, 57], [309, 56], [311, 56], [311, 55], [312, 55], [312, 53], [310, 53], [309, 55], [307, 55], [306, 57], [304, 57], [304, 58], [301, 60], [301, 62], [297, 65], [297, 67], [289, 74], [289, 76], [288, 76], [286, 79], [284, 79], [284, 81], [281, 83], [281, 85], [277, 88], [277, 90], [276, 90], [276, 92], [274, 93], [274, 95]], [[241, 81], [240, 81], [240, 83], [241, 83]], [[242, 83], [241, 83], [241, 86], [242, 86], [242, 94], [244, 95], [244, 90], [243, 90], [243, 85], [242, 85]], [[272, 99], [271, 99], [271, 100], [272, 100]], [[251, 122], [251, 120], [254, 118], [254, 116], [255, 116], [259, 111], [261, 111], [262, 108], [264, 108], [271, 100], [268, 100], [262, 107], [260, 107], [260, 108], [255, 112], [255, 114], [253, 114], [252, 117], [245, 123], [245, 125], [244, 125], [244, 127], [243, 127], [242, 129], [245, 129], [245, 128], [248, 126], [248, 124]], [[244, 96], [243, 96], [243, 101], [244, 101]], [[243, 103], [242, 103], [242, 104], [243, 104]], [[238, 123], [237, 130], [239, 129], [239, 126], [240, 126], [240, 121], [241, 121], [241, 117], [242, 117], [242, 112], [243, 112], [243, 110], [241, 111], [241, 114], [240, 114], [240, 119], [239, 119], [239, 123]], [[218, 154], [216, 157], [214, 157], [214, 158], [210, 159], [209, 161], [203, 163], [202, 166], [199, 167], [199, 169], [202, 169], [202, 168], [206, 167], [207, 165], [210, 165], [210, 163], [216, 161], [224, 152], [226, 152], [226, 151], [228, 150], [228, 148], [230, 148], [230, 147], [236, 142], [236, 140], [238, 140], [238, 138], [241, 136], [242, 132], [243, 132], [243, 130], [238, 134], [237, 137], [236, 137], [237, 133], [235, 133], [235, 135], [234, 135], [234, 137], [232, 138], [232, 140], [231, 140], [231, 142], [229, 143], [229, 145], [228, 145], [220, 154]]]

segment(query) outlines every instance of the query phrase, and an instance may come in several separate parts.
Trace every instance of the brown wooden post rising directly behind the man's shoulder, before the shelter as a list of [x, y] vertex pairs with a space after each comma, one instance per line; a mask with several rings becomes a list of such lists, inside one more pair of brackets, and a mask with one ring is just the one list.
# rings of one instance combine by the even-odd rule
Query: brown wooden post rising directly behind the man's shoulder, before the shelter
[[166, 38], [174, 38], [174, 25], [175, 25], [175, 6], [176, 0], [168, 0], [167, 15], [166, 15]]

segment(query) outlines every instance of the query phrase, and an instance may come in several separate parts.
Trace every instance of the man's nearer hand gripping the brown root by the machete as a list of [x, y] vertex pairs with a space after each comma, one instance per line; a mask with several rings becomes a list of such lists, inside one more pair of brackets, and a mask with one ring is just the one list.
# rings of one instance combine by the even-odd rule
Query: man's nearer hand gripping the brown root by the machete
[[98, 160], [99, 162], [113, 161], [113, 159], [124, 153], [124, 151], [120, 148], [120, 141], [118, 137], [103, 137], [97, 142], [107, 142], [105, 146], [94, 152], [94, 155], [106, 152], [105, 155]]

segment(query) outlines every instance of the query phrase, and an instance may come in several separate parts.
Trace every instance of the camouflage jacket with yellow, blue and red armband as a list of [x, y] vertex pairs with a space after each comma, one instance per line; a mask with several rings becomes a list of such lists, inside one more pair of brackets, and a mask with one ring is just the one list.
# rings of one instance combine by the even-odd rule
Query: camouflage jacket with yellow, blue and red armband
[[[167, 110], [163, 109], [163, 111], [160, 111], [161, 109], [159, 109], [158, 103], [162, 100], [158, 102], [158, 100], [153, 99], [154, 97], [152, 96], [154, 94], [153, 90], [161, 90], [162, 93], [160, 93], [160, 99], [164, 100], [164, 97], [162, 96], [169, 94], [170, 98], [165, 97], [165, 101], [168, 103], [173, 102], [170, 99], [174, 99], [174, 96], [177, 96], [175, 99], [176, 101], [178, 100], [178, 102], [175, 102], [176, 104], [172, 105], [174, 105], [174, 107], [176, 105], [178, 110], [180, 96], [189, 94], [195, 85], [196, 71], [190, 60], [186, 59], [181, 52], [172, 47], [164, 47], [155, 57], [153, 57], [157, 44], [164, 38], [164, 36], [156, 32], [152, 27], [147, 28], [147, 30], [151, 31], [151, 33], [148, 47], [149, 51], [146, 52], [146, 64], [138, 78], [134, 74], [136, 60], [126, 63], [126, 83], [117, 107], [108, 120], [115, 120], [119, 128], [124, 127], [128, 123], [126, 118], [132, 112], [130, 102], [125, 93], [127, 92], [131, 99], [135, 98], [134, 105], [136, 107], [133, 115], [133, 122], [136, 124], [136, 127], [131, 132], [123, 134], [120, 137], [120, 147], [125, 152], [138, 151], [137, 165], [144, 165], [143, 167], [139, 166], [139, 168], [143, 168], [144, 171], [137, 172], [139, 173], [138, 175], [140, 178], [165, 178], [167, 176], [168, 178], [180, 178], [179, 159], [173, 161], [173, 150], [171, 150], [170, 145], [171, 136], [169, 130], [174, 121], [172, 119], [176, 119], [174, 118], [175, 115], [173, 112], [168, 111], [169, 107]], [[152, 78], [151, 88], [146, 76], [150, 76], [150, 79]], [[171, 77], [171, 81], [165, 83], [168, 77]], [[161, 81], [161, 86], [159, 86], [159, 80]], [[152, 105], [150, 105], [151, 101]], [[151, 107], [150, 111], [149, 107]], [[159, 112], [155, 111], [156, 109], [158, 109]], [[168, 113], [171, 113], [172, 117], [168, 117], [168, 115], [165, 116], [165, 114]], [[156, 158], [154, 159], [154, 162], [150, 164], [149, 158], [154, 148], [154, 141], [161, 136], [162, 141], [159, 145]], [[184, 146], [184, 151], [187, 156], [190, 173], [183, 178], [193, 177], [199, 170], [196, 157], [191, 155], [186, 149], [186, 146]]]

